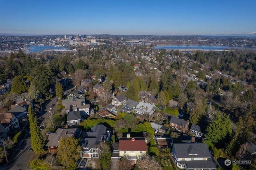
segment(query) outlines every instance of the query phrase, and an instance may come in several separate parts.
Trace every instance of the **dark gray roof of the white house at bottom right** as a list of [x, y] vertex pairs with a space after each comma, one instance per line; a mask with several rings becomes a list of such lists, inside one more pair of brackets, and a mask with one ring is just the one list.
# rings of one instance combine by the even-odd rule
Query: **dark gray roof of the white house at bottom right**
[[173, 148], [177, 158], [211, 158], [206, 143], [174, 143]]

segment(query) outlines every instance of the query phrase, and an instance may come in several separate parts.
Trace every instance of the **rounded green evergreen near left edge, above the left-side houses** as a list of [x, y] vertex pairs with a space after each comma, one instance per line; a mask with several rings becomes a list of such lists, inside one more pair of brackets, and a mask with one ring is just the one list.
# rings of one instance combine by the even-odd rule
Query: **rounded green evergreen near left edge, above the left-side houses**
[[15, 76], [12, 82], [12, 93], [21, 94], [27, 90], [27, 85], [21, 75]]

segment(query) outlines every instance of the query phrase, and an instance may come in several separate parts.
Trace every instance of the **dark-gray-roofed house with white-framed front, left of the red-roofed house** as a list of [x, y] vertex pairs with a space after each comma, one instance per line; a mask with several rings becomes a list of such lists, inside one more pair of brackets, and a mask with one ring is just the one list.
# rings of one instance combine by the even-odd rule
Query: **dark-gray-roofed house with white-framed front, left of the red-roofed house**
[[93, 159], [99, 158], [100, 148], [96, 145], [104, 140], [109, 140], [110, 131], [104, 125], [95, 125], [88, 132], [83, 134], [80, 141], [82, 147], [81, 158]]

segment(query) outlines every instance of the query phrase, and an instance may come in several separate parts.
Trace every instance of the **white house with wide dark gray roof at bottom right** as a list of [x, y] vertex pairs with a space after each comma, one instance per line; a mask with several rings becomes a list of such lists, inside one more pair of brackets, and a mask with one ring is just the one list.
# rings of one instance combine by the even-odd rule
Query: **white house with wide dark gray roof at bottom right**
[[178, 168], [186, 170], [217, 170], [206, 143], [174, 143], [172, 155]]

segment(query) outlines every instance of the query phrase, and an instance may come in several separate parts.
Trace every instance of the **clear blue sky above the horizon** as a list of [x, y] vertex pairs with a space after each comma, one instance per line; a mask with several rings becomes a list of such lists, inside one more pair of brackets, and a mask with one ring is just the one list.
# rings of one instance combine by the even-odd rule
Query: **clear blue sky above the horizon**
[[256, 0], [2, 0], [0, 34], [256, 32]]

